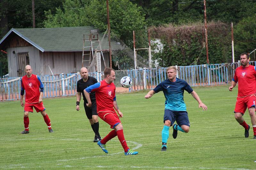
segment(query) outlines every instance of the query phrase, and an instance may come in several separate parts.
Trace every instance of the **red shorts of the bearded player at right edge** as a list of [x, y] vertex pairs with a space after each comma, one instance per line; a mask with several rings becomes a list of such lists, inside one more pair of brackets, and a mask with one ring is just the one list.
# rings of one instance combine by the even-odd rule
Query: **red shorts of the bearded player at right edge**
[[239, 113], [244, 114], [244, 112], [246, 111], [247, 108], [248, 109], [250, 107], [255, 108], [255, 99], [256, 99], [255, 95], [236, 98], [236, 107], [235, 107], [234, 112], [235, 113], [239, 112]]

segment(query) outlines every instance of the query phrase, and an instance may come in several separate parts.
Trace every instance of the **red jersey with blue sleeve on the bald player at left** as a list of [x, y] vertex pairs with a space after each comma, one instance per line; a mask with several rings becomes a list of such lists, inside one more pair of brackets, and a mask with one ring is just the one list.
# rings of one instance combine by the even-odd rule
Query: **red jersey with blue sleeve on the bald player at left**
[[39, 89], [42, 88], [44, 88], [44, 85], [35, 74], [31, 74], [30, 78], [27, 75], [21, 78], [21, 90], [25, 90], [25, 103], [38, 103]]

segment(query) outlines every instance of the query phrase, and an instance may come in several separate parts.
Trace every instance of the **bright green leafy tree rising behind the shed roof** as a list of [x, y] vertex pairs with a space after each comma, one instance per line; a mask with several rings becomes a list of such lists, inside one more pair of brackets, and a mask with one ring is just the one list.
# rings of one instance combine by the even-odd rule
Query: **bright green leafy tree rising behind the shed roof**
[[[107, 6], [105, 0], [91, 0], [88, 3], [79, 0], [66, 0], [63, 10], [56, 9], [56, 14], [47, 11], [45, 27], [93, 25], [101, 32], [107, 29]], [[129, 0], [110, 0], [109, 15], [111, 32], [127, 45], [132, 45], [132, 31], [144, 30], [144, 15], [141, 8]], [[138, 38], [140, 39], [140, 38]]]

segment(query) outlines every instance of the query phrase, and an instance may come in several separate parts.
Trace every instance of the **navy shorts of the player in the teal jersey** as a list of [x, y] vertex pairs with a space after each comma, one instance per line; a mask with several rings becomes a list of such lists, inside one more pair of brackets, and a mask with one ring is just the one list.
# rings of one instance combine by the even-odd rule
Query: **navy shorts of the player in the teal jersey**
[[164, 122], [165, 120], [171, 121], [171, 126], [176, 121], [179, 126], [187, 125], [190, 126], [188, 120], [188, 112], [186, 111], [173, 111], [169, 109], [164, 110]]

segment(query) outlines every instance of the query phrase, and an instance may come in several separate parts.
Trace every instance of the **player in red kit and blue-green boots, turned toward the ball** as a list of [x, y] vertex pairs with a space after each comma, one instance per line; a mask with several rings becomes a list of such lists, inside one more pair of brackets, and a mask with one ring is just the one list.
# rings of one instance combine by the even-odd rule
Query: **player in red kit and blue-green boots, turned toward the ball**
[[[108, 153], [106, 149], [106, 143], [114, 138], [118, 137], [121, 145], [124, 148], [125, 155], [136, 155], [138, 152], [132, 151], [126, 144], [124, 139], [123, 125], [119, 117], [123, 117], [123, 113], [119, 110], [116, 103], [116, 86], [113, 83], [115, 80], [115, 70], [112, 68], [104, 69], [105, 79], [97, 82], [86, 89], [84, 89], [84, 95], [87, 100], [87, 106], [91, 107], [92, 102], [90, 99], [90, 92], [95, 91], [96, 104], [98, 116], [110, 125], [110, 128], [114, 129], [108, 133], [108, 135], [98, 142], [100, 148]], [[115, 108], [115, 109], [114, 109]], [[116, 114], [116, 111], [119, 117]]]

